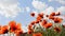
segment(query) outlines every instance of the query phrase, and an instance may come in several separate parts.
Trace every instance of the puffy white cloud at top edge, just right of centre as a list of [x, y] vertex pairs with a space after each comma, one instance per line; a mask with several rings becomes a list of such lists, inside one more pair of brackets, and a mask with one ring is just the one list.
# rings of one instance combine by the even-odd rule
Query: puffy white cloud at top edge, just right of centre
[[32, 6], [37, 10], [44, 10], [48, 5], [44, 2], [32, 0]]

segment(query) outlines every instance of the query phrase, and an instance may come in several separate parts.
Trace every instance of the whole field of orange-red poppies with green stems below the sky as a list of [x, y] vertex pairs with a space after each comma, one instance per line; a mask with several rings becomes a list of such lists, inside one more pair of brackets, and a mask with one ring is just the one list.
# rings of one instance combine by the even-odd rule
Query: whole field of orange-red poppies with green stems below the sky
[[[50, 15], [43, 13], [30, 13], [32, 20], [28, 24], [28, 31], [24, 33], [21, 23], [16, 21], [10, 21], [6, 25], [0, 25], [0, 35], [15, 34], [15, 36], [65, 36], [65, 24], [63, 23], [63, 18], [60, 17], [61, 13], [52, 12]], [[3, 35], [4, 36], [4, 35]]]

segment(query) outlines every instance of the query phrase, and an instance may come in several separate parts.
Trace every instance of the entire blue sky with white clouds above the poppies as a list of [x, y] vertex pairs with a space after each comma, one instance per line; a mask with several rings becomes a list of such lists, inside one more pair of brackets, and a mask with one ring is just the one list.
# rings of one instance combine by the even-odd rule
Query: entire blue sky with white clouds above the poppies
[[61, 12], [65, 16], [65, 0], [0, 0], [0, 25], [8, 24], [15, 20], [26, 26], [35, 20], [30, 13]]

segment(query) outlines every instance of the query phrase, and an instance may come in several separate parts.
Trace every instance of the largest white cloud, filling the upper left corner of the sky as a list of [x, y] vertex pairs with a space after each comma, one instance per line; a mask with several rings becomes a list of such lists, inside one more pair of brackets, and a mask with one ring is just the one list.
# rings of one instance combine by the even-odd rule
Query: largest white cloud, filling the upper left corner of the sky
[[18, 0], [0, 0], [0, 15], [16, 17], [20, 11]]

